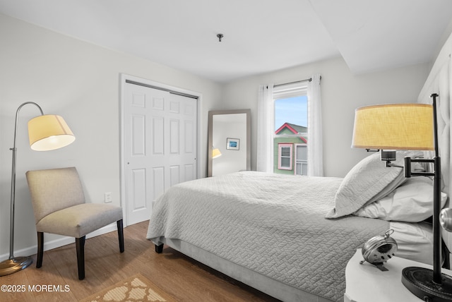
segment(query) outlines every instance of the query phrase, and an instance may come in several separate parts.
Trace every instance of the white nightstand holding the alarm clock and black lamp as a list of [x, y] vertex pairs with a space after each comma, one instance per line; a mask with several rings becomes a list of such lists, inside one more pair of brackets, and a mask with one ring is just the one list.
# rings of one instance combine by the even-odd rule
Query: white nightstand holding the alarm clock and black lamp
[[[359, 261], [361, 260], [363, 258], [359, 248], [345, 268], [345, 280], [347, 282], [344, 294], [345, 302], [422, 301], [411, 294], [402, 284], [402, 270], [409, 266], [432, 268], [431, 265], [393, 257], [384, 263], [388, 271], [381, 272], [369, 262], [360, 265]], [[442, 272], [452, 276], [451, 270], [443, 269]]]

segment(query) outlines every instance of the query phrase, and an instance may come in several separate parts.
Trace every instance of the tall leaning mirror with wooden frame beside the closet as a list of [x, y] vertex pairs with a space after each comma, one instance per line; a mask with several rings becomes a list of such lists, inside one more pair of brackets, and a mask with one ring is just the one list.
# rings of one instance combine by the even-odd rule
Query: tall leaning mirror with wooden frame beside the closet
[[251, 109], [209, 111], [208, 176], [251, 170]]

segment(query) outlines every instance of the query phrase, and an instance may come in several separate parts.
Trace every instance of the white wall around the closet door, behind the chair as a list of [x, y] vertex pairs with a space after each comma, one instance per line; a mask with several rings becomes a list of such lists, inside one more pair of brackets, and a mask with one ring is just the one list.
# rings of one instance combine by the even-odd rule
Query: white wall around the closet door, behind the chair
[[[126, 73], [203, 94], [201, 176], [206, 176], [208, 111], [218, 107], [221, 86], [184, 71], [155, 64], [81, 40], [59, 35], [0, 14], [0, 260], [8, 257], [11, 151], [16, 109], [37, 102], [44, 114], [64, 117], [76, 135], [68, 147], [34, 152], [28, 146], [27, 121], [39, 114], [20, 111], [16, 188], [15, 255], [36, 246], [35, 219], [25, 171], [77, 167], [88, 202], [103, 203], [119, 192], [119, 75]], [[46, 242], [57, 236], [47, 236]], [[23, 250], [25, 255], [28, 250]]]

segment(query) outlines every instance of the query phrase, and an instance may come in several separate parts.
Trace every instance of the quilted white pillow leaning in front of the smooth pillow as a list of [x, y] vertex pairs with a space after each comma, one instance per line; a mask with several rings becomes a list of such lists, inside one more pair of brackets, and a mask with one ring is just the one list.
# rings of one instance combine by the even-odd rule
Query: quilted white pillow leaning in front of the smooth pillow
[[[398, 151], [393, 164], [403, 167], [404, 157], [420, 156], [419, 151]], [[374, 153], [357, 163], [343, 179], [335, 195], [335, 208], [326, 218], [350, 215], [364, 205], [372, 203], [391, 193], [405, 181], [403, 168], [386, 167], [380, 153]]]

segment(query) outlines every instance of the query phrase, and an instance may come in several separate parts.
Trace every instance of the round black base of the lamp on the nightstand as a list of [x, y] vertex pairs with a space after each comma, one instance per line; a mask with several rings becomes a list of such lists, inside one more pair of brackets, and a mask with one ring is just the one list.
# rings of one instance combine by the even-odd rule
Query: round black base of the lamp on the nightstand
[[452, 301], [452, 277], [441, 274], [441, 284], [433, 282], [433, 270], [424, 267], [405, 267], [402, 283], [422, 301]]

